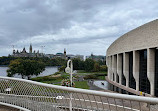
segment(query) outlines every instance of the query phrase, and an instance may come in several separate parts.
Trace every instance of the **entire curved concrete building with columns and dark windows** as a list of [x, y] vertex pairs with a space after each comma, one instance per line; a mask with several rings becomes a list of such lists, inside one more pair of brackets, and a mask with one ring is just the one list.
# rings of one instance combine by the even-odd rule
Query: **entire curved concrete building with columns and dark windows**
[[109, 83], [113, 90], [158, 96], [158, 20], [118, 38], [107, 50]]

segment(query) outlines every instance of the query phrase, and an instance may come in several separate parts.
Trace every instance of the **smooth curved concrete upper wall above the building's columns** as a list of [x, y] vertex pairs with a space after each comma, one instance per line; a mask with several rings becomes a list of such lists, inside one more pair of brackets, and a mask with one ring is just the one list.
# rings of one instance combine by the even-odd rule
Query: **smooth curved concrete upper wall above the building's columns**
[[151, 47], [158, 47], [158, 20], [142, 25], [118, 38], [107, 49], [106, 56]]

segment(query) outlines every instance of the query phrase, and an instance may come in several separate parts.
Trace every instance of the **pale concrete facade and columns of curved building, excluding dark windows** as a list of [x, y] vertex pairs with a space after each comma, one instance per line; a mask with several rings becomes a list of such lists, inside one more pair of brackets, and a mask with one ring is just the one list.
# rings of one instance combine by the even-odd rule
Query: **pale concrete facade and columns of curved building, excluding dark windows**
[[[158, 20], [142, 25], [118, 38], [107, 50], [108, 79], [116, 83], [117, 74], [121, 85], [122, 73], [129, 88], [129, 53], [133, 52], [133, 77], [136, 91], [139, 92], [139, 50], [147, 49], [147, 78], [150, 82], [150, 95], [155, 94], [155, 49], [158, 47]], [[123, 55], [123, 67], [122, 57]], [[122, 72], [123, 68], [123, 72]], [[114, 76], [114, 77], [113, 77]]]

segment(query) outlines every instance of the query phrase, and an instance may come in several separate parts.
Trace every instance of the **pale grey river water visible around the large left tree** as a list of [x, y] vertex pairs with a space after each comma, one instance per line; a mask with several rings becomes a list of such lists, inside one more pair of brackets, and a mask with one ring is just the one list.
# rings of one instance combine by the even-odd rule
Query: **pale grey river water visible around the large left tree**
[[[0, 76], [7, 76], [7, 69], [8, 67], [0, 67]], [[47, 76], [50, 74], [54, 74], [55, 72], [58, 71], [58, 67], [46, 67], [45, 71], [43, 71], [40, 75], [38, 76]], [[21, 76], [15, 75], [17, 78], [21, 78]]]

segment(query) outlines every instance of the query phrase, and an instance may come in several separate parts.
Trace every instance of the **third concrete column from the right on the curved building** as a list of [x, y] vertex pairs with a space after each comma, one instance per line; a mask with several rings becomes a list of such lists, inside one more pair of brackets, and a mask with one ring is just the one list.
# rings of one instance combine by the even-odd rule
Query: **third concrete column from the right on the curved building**
[[123, 53], [123, 74], [126, 78], [126, 87], [129, 87], [129, 54]]

